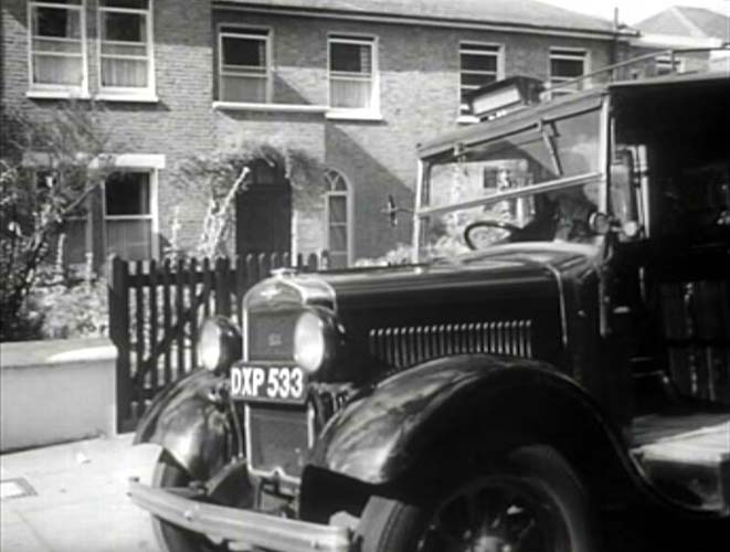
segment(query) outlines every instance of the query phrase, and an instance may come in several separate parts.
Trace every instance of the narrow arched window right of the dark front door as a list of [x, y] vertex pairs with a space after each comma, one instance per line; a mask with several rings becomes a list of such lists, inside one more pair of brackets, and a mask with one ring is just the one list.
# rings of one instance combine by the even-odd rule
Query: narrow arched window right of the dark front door
[[327, 250], [332, 268], [343, 268], [350, 261], [350, 195], [347, 180], [334, 170], [325, 171]]

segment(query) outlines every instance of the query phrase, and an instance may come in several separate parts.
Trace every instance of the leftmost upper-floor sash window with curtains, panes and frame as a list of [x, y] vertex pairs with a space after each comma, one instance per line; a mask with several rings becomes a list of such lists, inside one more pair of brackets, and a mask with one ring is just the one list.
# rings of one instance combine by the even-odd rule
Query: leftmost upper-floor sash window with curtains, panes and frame
[[83, 0], [29, 2], [31, 89], [85, 92], [84, 10]]

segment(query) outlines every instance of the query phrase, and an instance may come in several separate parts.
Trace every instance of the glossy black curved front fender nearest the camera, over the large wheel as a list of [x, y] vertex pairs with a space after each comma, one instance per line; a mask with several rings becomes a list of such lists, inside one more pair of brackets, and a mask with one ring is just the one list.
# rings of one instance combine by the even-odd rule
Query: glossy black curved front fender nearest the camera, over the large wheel
[[[557, 420], [560, 408], [573, 417], [573, 427], [552, 427], [564, 423]], [[438, 359], [383, 381], [345, 407], [325, 427], [310, 465], [381, 485], [424, 458], [434, 437], [444, 432], [466, 426], [470, 435], [484, 431], [487, 435], [482, 435], [490, 438], [489, 427], [498, 427], [510, 435], [556, 433], [539, 435], [556, 440], [561, 432], [574, 436], [578, 425], [585, 423], [604, 440], [613, 440], [610, 448], [620, 449], [588, 394], [550, 367], [488, 355]]]

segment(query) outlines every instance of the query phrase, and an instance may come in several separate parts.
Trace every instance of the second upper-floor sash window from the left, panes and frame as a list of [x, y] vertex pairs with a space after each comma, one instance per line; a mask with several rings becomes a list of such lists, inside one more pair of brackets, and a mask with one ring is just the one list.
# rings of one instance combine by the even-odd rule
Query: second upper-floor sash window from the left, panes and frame
[[154, 94], [152, 0], [99, 0], [99, 88]]

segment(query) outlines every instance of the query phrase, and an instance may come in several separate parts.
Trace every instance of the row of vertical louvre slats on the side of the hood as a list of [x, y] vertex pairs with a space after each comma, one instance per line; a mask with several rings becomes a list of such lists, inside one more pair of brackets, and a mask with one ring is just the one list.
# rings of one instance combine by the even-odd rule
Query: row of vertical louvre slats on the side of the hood
[[449, 354], [491, 353], [532, 357], [532, 321], [373, 328], [370, 354], [395, 368], [408, 368]]

